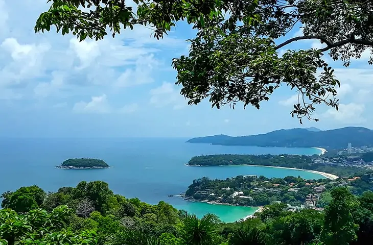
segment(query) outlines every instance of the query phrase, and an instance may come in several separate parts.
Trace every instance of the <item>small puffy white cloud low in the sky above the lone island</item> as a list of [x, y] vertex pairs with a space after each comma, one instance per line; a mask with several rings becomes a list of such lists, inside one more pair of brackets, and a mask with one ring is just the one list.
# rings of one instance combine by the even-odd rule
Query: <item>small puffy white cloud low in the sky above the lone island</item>
[[106, 94], [101, 96], [92, 96], [90, 102], [78, 102], [74, 105], [73, 111], [76, 113], [109, 113], [110, 105]]

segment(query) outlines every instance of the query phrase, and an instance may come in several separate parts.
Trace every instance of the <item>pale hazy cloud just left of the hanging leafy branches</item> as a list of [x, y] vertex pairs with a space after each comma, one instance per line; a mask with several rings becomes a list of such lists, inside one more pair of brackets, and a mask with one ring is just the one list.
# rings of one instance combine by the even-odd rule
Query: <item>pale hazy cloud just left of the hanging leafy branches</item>
[[150, 90], [150, 94], [152, 95], [150, 104], [153, 104], [155, 107], [171, 105], [174, 110], [184, 108], [187, 105], [186, 100], [175, 87], [172, 83], [164, 82], [161, 86]]

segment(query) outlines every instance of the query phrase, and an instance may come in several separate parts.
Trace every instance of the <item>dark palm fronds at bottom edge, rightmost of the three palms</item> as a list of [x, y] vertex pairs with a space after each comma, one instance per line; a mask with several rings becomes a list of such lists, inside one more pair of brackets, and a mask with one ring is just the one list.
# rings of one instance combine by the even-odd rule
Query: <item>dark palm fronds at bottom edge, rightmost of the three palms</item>
[[229, 245], [266, 245], [265, 234], [257, 227], [246, 227], [232, 232]]

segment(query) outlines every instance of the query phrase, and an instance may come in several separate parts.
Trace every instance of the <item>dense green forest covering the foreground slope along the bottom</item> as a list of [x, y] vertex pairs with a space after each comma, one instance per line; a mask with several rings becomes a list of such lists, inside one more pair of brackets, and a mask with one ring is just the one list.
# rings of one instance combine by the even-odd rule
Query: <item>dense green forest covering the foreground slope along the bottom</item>
[[[149, 205], [114, 194], [105, 182], [80, 182], [45, 193], [37, 186], [2, 195], [0, 244], [240, 245], [368, 244], [373, 239], [373, 192], [330, 192], [320, 212], [271, 204], [245, 222], [201, 219], [165, 202]], [[316, 243], [315, 243], [316, 244]]]

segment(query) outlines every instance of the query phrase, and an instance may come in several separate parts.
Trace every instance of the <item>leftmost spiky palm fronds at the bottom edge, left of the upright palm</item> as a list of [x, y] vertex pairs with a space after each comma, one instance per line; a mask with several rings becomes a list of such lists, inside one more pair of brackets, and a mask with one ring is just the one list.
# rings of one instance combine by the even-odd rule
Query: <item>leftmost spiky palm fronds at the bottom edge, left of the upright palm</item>
[[126, 229], [108, 236], [107, 245], [159, 245], [159, 240], [137, 230]]

